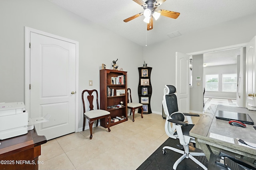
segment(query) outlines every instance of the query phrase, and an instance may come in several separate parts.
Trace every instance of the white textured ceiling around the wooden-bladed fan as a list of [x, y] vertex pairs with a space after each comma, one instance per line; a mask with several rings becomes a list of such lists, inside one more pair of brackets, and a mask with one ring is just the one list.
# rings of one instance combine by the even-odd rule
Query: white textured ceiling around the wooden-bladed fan
[[[139, 45], [152, 45], [170, 39], [169, 33], [181, 36], [218, 23], [256, 13], [256, 0], [166, 0], [157, 9], [180, 12], [174, 20], [160, 16], [153, 21], [153, 29], [140, 16], [125, 23], [123, 20], [143, 12], [132, 0], [49, 0], [50, 2], [105, 27]], [[144, 0], [145, 1], [145, 0]]]

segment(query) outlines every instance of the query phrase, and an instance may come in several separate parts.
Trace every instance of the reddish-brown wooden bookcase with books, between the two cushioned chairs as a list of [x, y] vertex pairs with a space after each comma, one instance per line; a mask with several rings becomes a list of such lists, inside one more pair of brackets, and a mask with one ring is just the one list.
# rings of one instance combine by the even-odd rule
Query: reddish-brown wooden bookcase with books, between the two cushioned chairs
[[[122, 107], [116, 107], [120, 102]], [[127, 121], [127, 72], [100, 70], [100, 109], [110, 112], [111, 119], [124, 116], [125, 119], [112, 122], [110, 126]], [[100, 125], [107, 128], [108, 119], [100, 119]]]

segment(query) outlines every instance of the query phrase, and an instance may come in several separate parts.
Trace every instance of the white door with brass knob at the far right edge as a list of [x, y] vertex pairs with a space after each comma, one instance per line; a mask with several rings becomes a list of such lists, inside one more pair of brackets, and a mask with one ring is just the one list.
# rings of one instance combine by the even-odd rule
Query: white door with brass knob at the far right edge
[[246, 45], [246, 107], [249, 110], [256, 110], [255, 44], [254, 37]]

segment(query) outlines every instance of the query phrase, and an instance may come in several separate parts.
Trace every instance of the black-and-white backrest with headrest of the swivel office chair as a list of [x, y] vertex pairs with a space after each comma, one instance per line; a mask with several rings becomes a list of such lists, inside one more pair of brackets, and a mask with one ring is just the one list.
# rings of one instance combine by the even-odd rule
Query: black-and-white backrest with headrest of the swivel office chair
[[163, 107], [166, 116], [170, 117], [172, 113], [179, 111], [177, 96], [174, 94], [176, 92], [176, 88], [172, 85], [165, 86], [166, 88], [164, 88]]

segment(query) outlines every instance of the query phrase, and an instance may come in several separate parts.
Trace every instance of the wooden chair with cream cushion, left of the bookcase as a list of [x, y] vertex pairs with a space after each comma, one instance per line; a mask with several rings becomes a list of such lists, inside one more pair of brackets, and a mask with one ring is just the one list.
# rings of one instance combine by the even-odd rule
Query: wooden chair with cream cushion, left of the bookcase
[[[85, 109], [85, 100], [84, 98], [84, 92], [87, 92], [87, 100], [90, 104], [89, 111], [86, 111]], [[94, 96], [96, 96], [96, 107], [93, 105], [93, 102], [95, 103]], [[83, 102], [83, 109], [84, 109], [84, 123], [83, 123], [83, 131], [84, 131], [84, 126], [85, 126], [85, 119], [88, 119], [89, 121], [89, 127], [90, 127], [90, 139], [92, 139], [92, 125], [95, 120], [97, 120], [96, 126], [98, 127], [99, 119], [102, 118], [108, 118], [108, 131], [110, 132], [110, 112], [106, 110], [101, 110], [99, 109], [99, 104], [98, 104], [98, 91], [97, 90], [84, 90], [82, 91], [82, 102]]]

